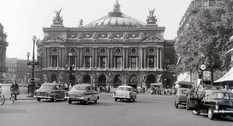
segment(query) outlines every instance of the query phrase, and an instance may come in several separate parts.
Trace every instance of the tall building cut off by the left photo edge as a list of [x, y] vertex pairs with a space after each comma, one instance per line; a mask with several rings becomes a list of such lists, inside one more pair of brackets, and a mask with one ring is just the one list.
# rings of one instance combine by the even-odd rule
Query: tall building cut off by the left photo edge
[[6, 49], [8, 42], [6, 41], [7, 35], [4, 32], [4, 27], [0, 23], [0, 83], [2, 83], [5, 78], [4, 74], [7, 72], [6, 68]]

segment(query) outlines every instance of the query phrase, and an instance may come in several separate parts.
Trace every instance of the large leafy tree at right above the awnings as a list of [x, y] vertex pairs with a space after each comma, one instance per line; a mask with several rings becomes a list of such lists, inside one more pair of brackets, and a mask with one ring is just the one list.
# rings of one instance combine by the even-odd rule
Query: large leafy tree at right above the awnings
[[189, 26], [175, 42], [180, 62], [173, 66], [174, 72], [197, 71], [200, 64], [205, 64], [213, 83], [214, 70], [230, 65], [230, 56], [226, 52], [233, 47], [229, 40], [233, 35], [233, 1], [225, 2], [224, 5], [190, 10], [193, 17]]

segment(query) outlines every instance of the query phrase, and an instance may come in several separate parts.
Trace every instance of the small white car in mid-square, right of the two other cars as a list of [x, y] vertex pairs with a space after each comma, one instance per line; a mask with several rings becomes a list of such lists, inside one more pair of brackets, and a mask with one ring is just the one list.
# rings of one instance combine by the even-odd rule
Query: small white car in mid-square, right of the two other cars
[[137, 98], [137, 93], [134, 91], [132, 86], [119, 86], [117, 90], [113, 93], [113, 98], [115, 101], [118, 99], [126, 99], [128, 101], [135, 101]]

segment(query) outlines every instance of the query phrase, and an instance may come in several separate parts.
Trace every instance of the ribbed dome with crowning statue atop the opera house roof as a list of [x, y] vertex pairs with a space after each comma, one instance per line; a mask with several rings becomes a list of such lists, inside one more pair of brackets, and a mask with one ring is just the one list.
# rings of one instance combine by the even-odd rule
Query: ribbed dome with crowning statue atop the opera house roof
[[109, 12], [107, 16], [86, 25], [86, 27], [138, 27], [144, 25], [143, 22], [124, 15], [120, 11], [118, 1], [116, 1], [112, 12]]

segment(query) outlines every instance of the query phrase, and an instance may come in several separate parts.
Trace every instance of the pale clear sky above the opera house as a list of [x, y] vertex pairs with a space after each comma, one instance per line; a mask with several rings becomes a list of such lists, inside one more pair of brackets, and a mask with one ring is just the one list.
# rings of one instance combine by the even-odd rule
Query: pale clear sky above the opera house
[[[146, 23], [149, 9], [155, 9], [158, 26], [165, 27], [164, 39], [174, 39], [179, 22], [192, 0], [118, 0], [121, 12]], [[44, 27], [50, 27], [61, 11], [65, 27], [77, 27], [98, 20], [113, 10], [116, 0], [0, 0], [0, 23], [4, 26], [9, 43], [8, 58], [32, 57], [32, 36], [43, 40]], [[35, 51], [36, 54], [36, 51]]]

